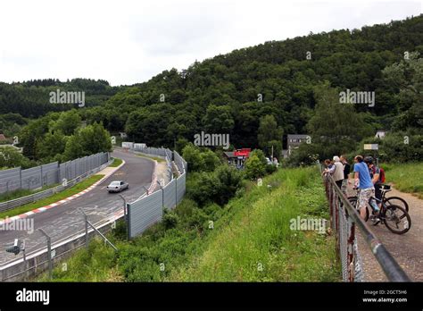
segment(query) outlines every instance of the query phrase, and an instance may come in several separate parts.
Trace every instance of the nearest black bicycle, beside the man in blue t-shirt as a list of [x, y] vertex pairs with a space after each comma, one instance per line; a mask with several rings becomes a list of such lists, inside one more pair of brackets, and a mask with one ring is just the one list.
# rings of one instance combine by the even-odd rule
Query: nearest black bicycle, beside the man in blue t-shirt
[[[403, 208], [402, 206], [395, 206], [392, 204], [387, 204], [384, 201], [386, 192], [391, 191], [391, 189], [381, 189], [382, 192], [382, 199], [378, 199], [372, 197], [369, 199], [369, 205], [371, 200], [374, 200], [376, 203], [381, 203], [381, 208], [379, 210], [379, 214], [377, 218], [379, 218], [380, 223], [386, 225], [386, 228], [396, 234], [404, 234], [411, 228], [411, 217], [410, 214]], [[350, 197], [348, 198], [352, 206], [356, 209], [358, 208], [358, 199], [357, 197]], [[373, 208], [371, 208], [373, 211]], [[374, 212], [373, 212], [374, 214]], [[369, 208], [366, 206], [366, 217], [364, 219], [365, 222], [369, 220]], [[401, 227], [400, 227], [401, 224]]]

